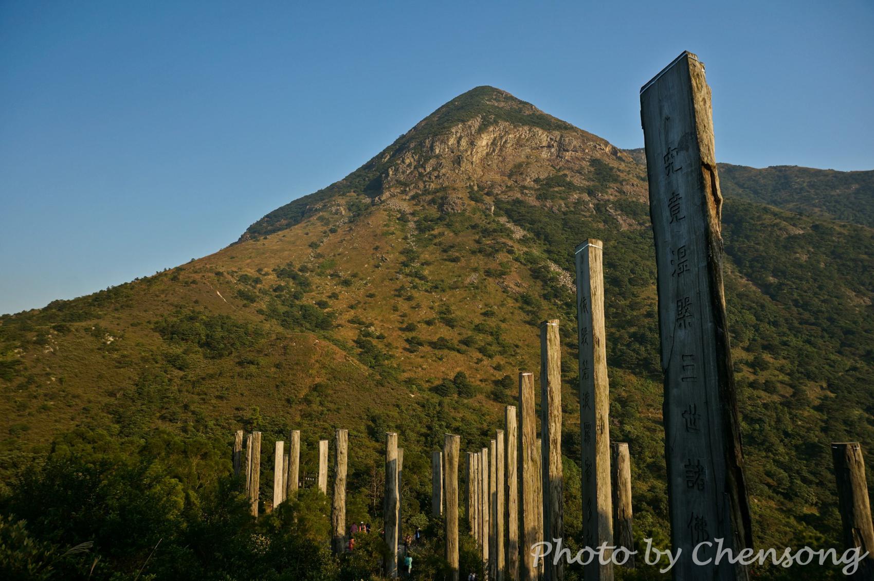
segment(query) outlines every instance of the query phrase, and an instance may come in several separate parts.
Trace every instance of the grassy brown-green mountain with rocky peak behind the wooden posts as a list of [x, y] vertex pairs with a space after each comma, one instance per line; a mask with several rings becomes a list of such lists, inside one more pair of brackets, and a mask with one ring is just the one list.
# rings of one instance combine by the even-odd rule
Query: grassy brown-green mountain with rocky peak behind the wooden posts
[[[829, 441], [874, 449], [874, 231], [725, 192], [725, 291], [756, 543], [840, 546]], [[631, 450], [635, 536], [666, 544], [646, 199], [632, 156], [508, 93], [465, 93], [237, 244], [0, 317], [3, 507], [17, 506], [13, 475], [31, 459], [83, 447], [117, 455], [119, 441], [149, 466], [165, 461], [162, 450], [178, 462], [185, 446], [199, 449], [192, 442], [217, 450], [204, 453], [218, 454], [212, 481], [173, 473], [191, 493], [180, 506], [193, 506], [192, 491], [218, 494], [230, 469], [221, 452], [240, 427], [264, 432], [269, 498], [274, 439], [301, 429], [312, 474], [317, 440], [346, 427], [350, 522], [378, 522], [392, 430], [405, 449], [405, 522], [427, 523], [431, 451], [444, 432], [461, 434], [462, 451], [487, 444], [517, 372], [538, 376], [538, 322], [559, 318], [565, 528], [579, 539], [572, 250], [600, 238], [611, 437]], [[860, 216], [868, 204], [857, 202]], [[53, 542], [86, 537], [67, 531]], [[151, 541], [128, 557], [148, 555]], [[123, 569], [128, 557], [108, 561]]]

